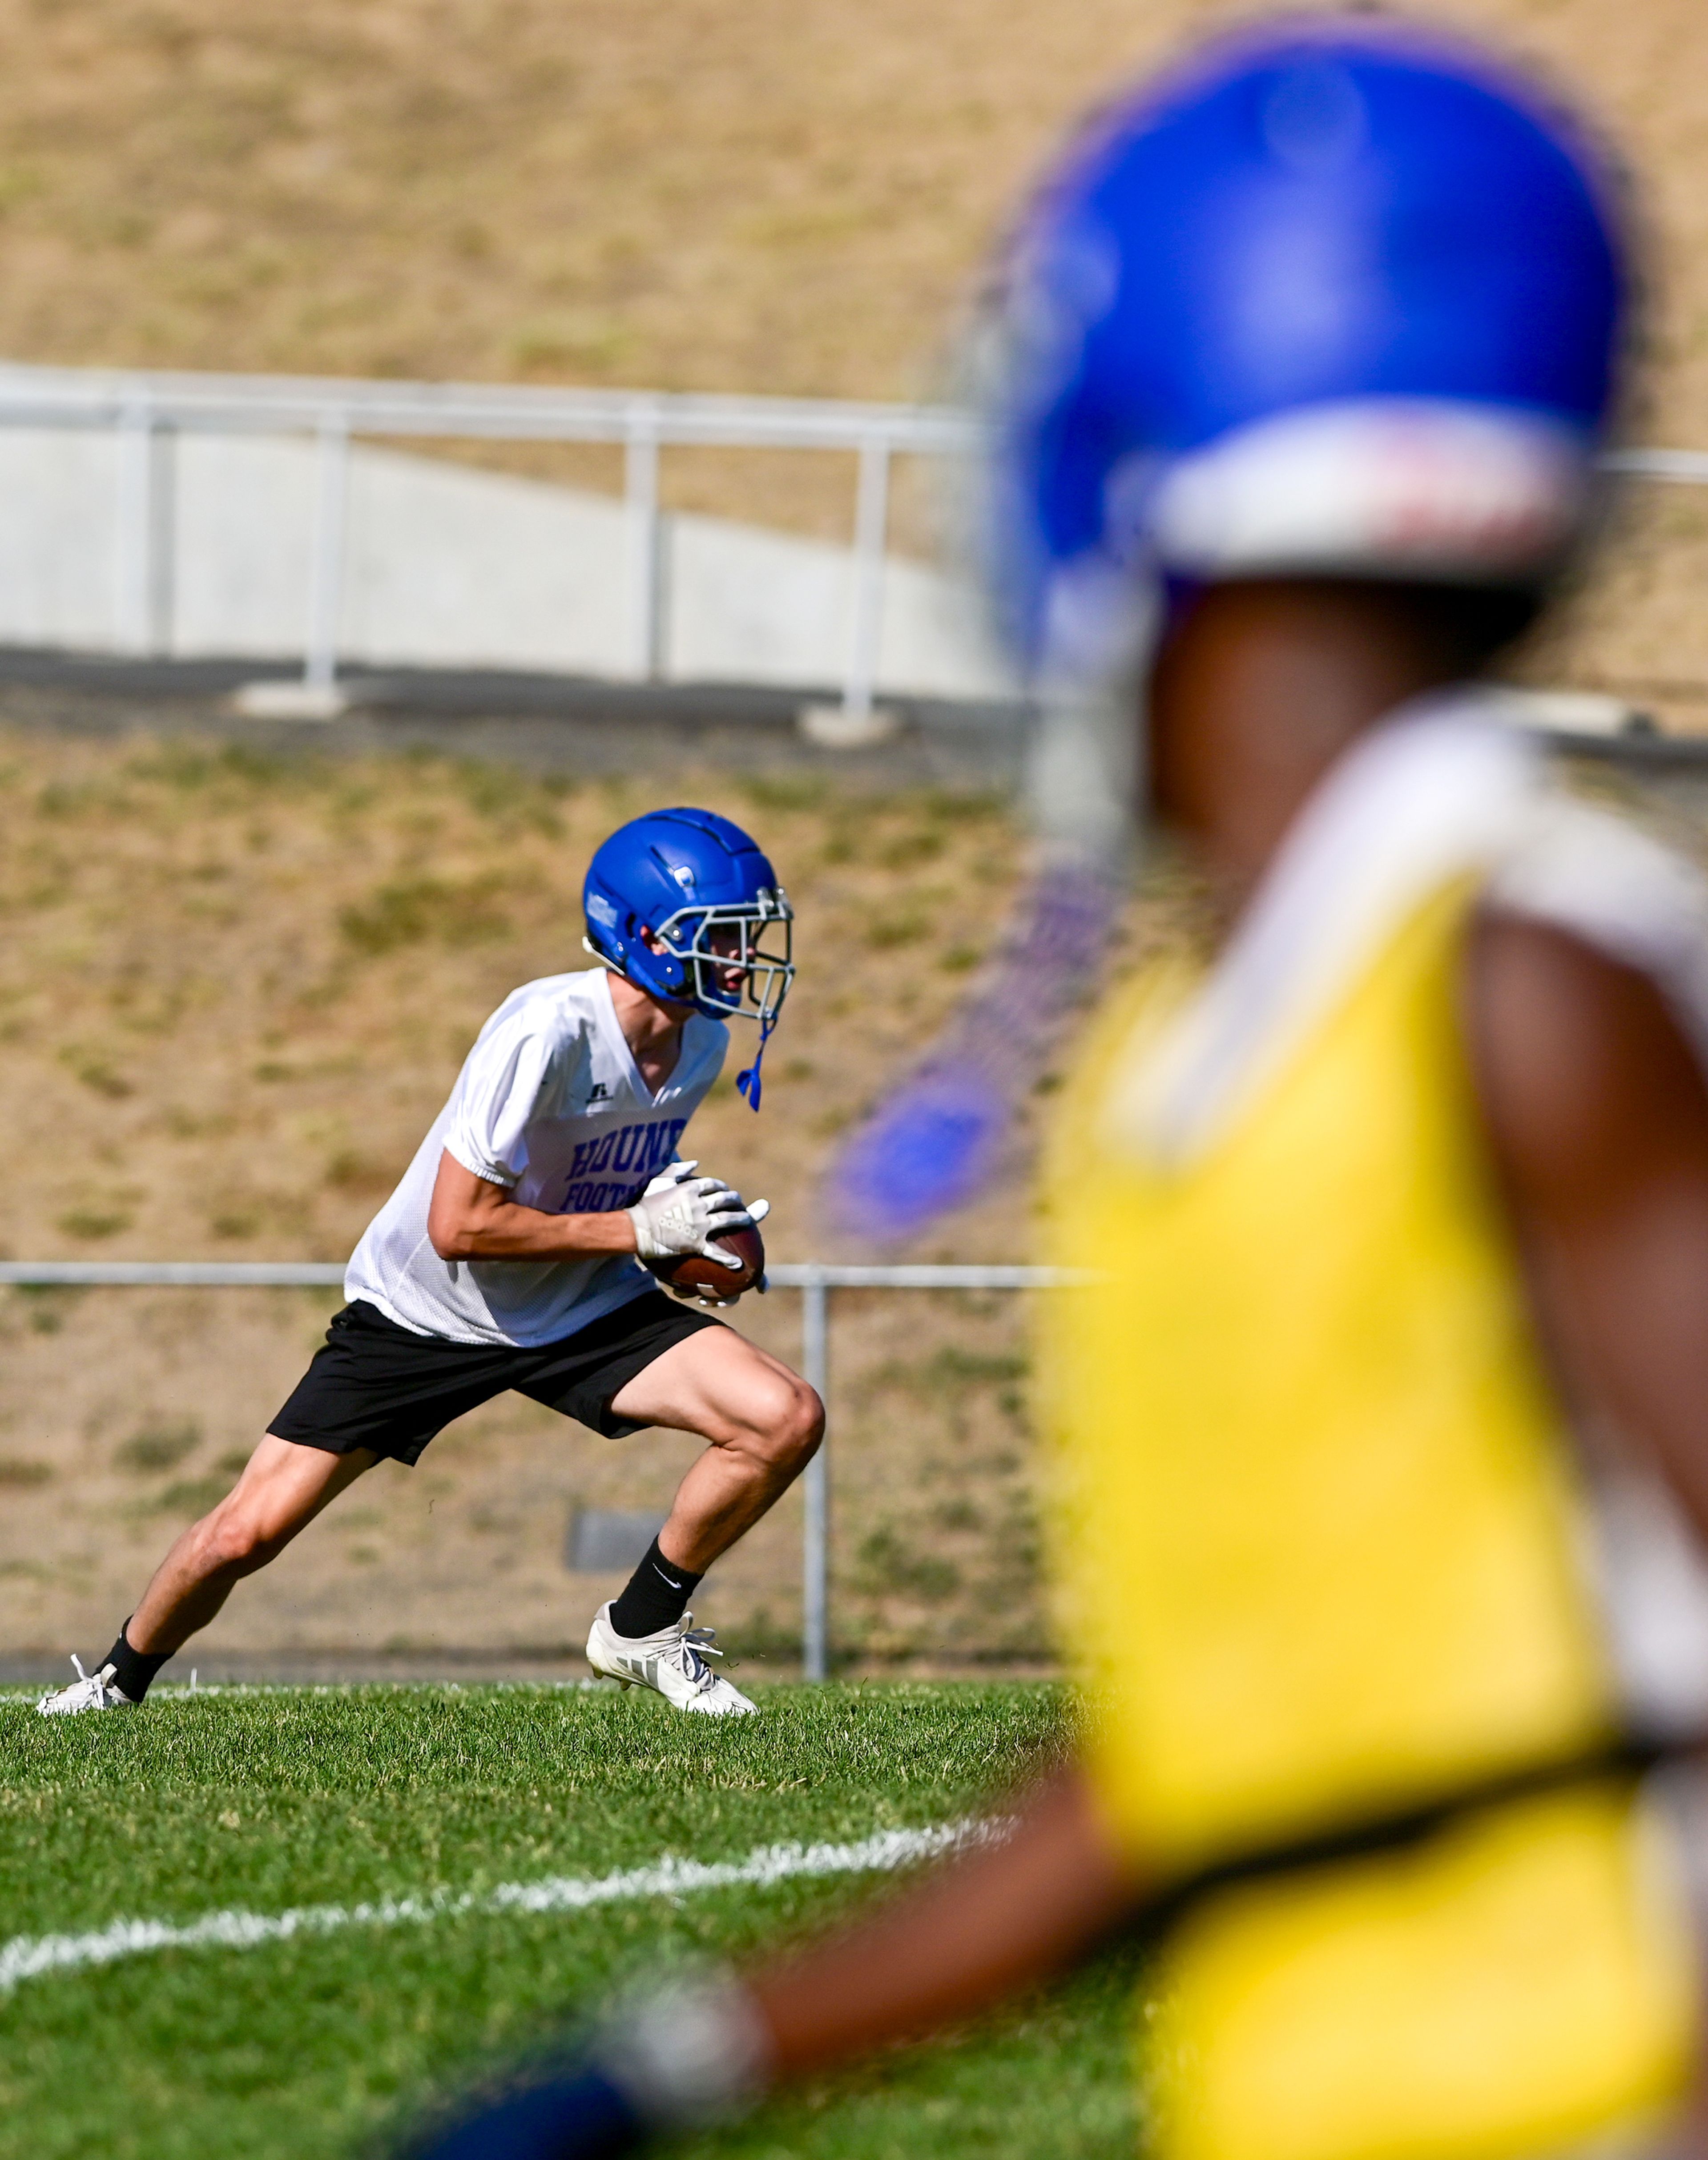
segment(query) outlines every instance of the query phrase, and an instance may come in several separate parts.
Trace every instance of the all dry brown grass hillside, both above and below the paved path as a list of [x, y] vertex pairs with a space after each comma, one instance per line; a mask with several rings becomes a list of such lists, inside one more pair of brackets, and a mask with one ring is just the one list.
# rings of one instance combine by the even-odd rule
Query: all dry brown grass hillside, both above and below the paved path
[[[0, 0], [0, 356], [931, 393], [1024, 175], [1112, 82], [1224, 19], [1183, 0]], [[1708, 445], [1708, 11], [1455, 0], [1429, 19], [1496, 32], [1624, 147], [1652, 229], [1632, 430]], [[527, 456], [615, 484], [594, 454]], [[672, 456], [667, 492], [849, 523], [831, 458]], [[928, 523], [913, 475], [900, 540]], [[1637, 495], [1529, 667], [1704, 726], [1704, 583], [1702, 497]], [[693, 771], [667, 793], [754, 823], [801, 903], [764, 1117], [726, 1086], [695, 1138], [777, 1203], [773, 1251], [805, 1257], [825, 1248], [814, 1171], [965, 985], [1017, 834], [948, 795]], [[445, 758], [0, 741], [0, 1240], [348, 1253], [486, 1011], [579, 961], [581, 864], [637, 808], [620, 784]], [[1021, 1214], [998, 1199], [939, 1251], [1024, 1257]], [[0, 1298], [0, 1642], [110, 1639], [330, 1302]], [[795, 1300], [741, 1324], [790, 1352]], [[1013, 1302], [842, 1298], [836, 1419], [844, 1646], [1039, 1655]], [[663, 1506], [687, 1445], [499, 1404], [412, 1477], [367, 1480], [209, 1650], [566, 1650], [613, 1588], [564, 1575], [572, 1506]], [[786, 1652], [795, 1538], [790, 1503], [713, 1579], [706, 1618], [745, 1648]]]

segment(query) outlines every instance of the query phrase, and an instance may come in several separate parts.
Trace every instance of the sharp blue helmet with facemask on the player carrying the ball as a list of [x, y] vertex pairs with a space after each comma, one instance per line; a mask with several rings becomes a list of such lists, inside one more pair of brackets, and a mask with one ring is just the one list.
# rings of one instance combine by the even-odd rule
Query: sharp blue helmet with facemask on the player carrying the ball
[[760, 1052], [736, 1082], [758, 1110], [760, 1058], [795, 981], [795, 909], [758, 842], [715, 810], [648, 810], [598, 847], [581, 905], [587, 950], [631, 983], [708, 1020], [758, 1022]]

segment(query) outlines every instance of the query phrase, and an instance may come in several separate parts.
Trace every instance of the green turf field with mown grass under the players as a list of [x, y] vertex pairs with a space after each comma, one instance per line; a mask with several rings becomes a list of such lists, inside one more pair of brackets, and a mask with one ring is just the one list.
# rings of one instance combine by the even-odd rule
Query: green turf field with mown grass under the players
[[[745, 1950], [883, 1877], [579, 1912], [486, 1903], [501, 1886], [950, 1823], [1058, 1732], [1054, 1689], [995, 1685], [773, 1689], [762, 1717], [728, 1724], [548, 1687], [164, 1693], [140, 1715], [52, 1724], [4, 1696], [0, 1974], [39, 1963], [41, 1938], [119, 1920], [343, 1912], [322, 1933], [13, 1979], [0, 1994], [0, 2156], [361, 2149], [434, 2078], [527, 2043], [613, 1976]], [[348, 1918], [387, 1899], [438, 1903]], [[1129, 1989], [1131, 1968], [1106, 1961], [1000, 2024], [814, 2089], [695, 2151], [1129, 2149]]]

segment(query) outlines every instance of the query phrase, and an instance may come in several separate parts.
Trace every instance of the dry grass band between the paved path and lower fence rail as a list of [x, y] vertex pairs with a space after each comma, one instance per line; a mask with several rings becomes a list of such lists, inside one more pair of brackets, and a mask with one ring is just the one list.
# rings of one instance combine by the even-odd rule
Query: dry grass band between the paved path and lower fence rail
[[[486, 1013], [592, 966], [587, 855], [659, 793], [0, 737], [9, 1248], [343, 1257]], [[667, 793], [758, 829], [797, 896], [764, 1115], [736, 1099], [736, 1058], [695, 1134], [738, 1182], [805, 1192], [963, 987], [1017, 873], [1013, 827], [982, 799], [810, 780], [680, 773]], [[797, 1251], [814, 1236], [784, 1223]]]

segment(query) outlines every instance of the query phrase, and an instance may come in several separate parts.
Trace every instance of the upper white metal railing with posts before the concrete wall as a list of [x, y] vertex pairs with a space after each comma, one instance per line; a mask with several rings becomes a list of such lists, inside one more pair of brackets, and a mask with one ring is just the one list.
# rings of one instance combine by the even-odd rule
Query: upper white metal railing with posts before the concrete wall
[[900, 454], [950, 456], [980, 441], [980, 423], [946, 406], [855, 404], [825, 397], [708, 397], [665, 391], [525, 389], [479, 382], [365, 382], [315, 376], [114, 374], [84, 367], [0, 367], [0, 428], [117, 432], [117, 642], [132, 652], [171, 644], [171, 484], [162, 451], [175, 434], [309, 434], [317, 445], [302, 680], [330, 693], [345, 577], [350, 443], [354, 436], [618, 443], [628, 510], [631, 665], [656, 680], [667, 592], [659, 451], [833, 449], [857, 460], [842, 704], [872, 706], [883, 635], [883, 553], [890, 467]]

